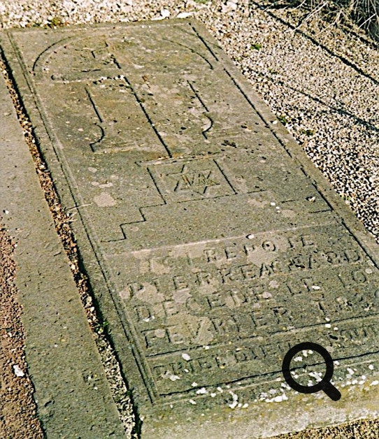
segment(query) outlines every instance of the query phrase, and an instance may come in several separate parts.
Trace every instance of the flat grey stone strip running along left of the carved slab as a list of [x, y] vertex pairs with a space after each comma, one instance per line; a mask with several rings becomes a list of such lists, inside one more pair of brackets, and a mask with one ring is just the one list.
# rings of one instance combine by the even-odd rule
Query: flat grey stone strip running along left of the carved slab
[[48, 438], [125, 437], [3, 78], [0, 105], [0, 208], [17, 243], [15, 283], [43, 431]]

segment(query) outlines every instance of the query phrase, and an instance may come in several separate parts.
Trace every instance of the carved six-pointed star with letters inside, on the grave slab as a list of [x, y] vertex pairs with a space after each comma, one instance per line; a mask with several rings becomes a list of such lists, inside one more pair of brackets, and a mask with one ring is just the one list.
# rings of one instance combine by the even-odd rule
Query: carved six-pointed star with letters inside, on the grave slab
[[220, 185], [213, 180], [212, 171], [210, 170], [194, 170], [187, 164], [182, 166], [178, 173], [166, 174], [168, 177], [176, 179], [174, 192], [190, 190], [196, 194], [203, 195], [208, 187]]

